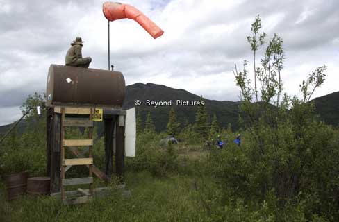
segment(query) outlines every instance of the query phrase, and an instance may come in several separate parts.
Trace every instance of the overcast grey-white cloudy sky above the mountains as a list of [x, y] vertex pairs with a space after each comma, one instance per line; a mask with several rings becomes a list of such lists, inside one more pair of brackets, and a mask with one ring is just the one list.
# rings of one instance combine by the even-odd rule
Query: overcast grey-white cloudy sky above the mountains
[[[260, 2], [260, 3], [259, 3]], [[104, 1], [0, 0], [0, 126], [21, 116], [28, 94], [44, 92], [49, 65], [65, 63], [76, 36], [90, 67], [107, 69]], [[156, 83], [207, 99], [238, 101], [234, 63], [251, 61], [246, 36], [260, 14], [269, 40], [283, 38], [283, 81], [288, 94], [315, 67], [328, 66], [313, 97], [339, 91], [339, 1], [129, 0], [160, 28], [154, 40], [129, 19], [110, 23], [111, 61], [126, 85]], [[252, 65], [250, 62], [249, 65]]]

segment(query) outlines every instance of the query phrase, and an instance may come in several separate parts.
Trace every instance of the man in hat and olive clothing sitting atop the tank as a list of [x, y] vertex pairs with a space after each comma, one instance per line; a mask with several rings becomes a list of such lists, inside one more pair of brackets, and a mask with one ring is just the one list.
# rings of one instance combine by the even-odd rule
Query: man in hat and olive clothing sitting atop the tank
[[71, 48], [68, 49], [65, 62], [66, 65], [72, 66], [72, 67], [84, 67], [88, 68], [90, 65], [90, 62], [92, 62], [92, 58], [85, 57], [83, 58], [83, 55], [81, 53], [81, 48], [83, 47], [83, 40], [81, 37], [76, 37], [76, 40], [74, 40], [71, 43]]

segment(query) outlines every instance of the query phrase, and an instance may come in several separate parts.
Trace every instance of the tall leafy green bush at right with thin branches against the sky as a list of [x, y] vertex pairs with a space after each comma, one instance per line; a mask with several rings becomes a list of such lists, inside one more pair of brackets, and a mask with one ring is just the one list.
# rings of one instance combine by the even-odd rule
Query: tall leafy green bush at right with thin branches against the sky
[[[265, 35], [254, 40], [260, 28], [261, 19], [257, 17], [251, 28], [254, 35], [247, 39], [251, 40], [254, 64], [258, 46], [264, 44]], [[324, 187], [338, 186], [333, 175], [339, 171], [339, 142], [335, 130], [317, 119], [309, 102], [315, 89], [324, 83], [326, 66], [317, 67], [299, 85], [303, 98], [297, 99], [283, 94], [283, 56], [283, 40], [274, 35], [261, 64], [255, 66], [254, 85], [248, 77], [248, 62], [242, 69], [235, 65], [235, 83], [243, 100], [241, 151], [216, 156], [211, 161], [217, 164], [215, 176], [224, 189], [232, 189], [240, 198], [263, 203], [274, 191], [274, 198], [283, 203], [306, 203], [306, 221], [320, 212], [329, 221], [338, 221], [339, 199]], [[252, 98], [258, 96], [260, 99]]]

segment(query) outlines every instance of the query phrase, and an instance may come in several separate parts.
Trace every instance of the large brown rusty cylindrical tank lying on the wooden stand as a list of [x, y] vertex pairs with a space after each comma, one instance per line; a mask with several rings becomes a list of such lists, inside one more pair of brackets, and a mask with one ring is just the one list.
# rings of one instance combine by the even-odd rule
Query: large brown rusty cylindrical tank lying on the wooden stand
[[125, 80], [119, 71], [51, 65], [47, 76], [47, 106], [121, 108]]

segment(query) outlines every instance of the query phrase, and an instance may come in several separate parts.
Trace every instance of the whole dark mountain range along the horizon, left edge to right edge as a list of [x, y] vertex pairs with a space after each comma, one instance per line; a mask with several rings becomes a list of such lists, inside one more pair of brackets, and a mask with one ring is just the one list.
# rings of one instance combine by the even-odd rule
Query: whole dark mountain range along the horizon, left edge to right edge
[[[135, 101], [140, 100], [142, 105], [137, 107], [144, 123], [147, 112], [151, 112], [151, 117], [156, 125], [158, 132], [164, 131], [168, 121], [168, 114], [171, 107], [174, 107], [177, 114], [177, 119], [184, 123], [188, 119], [189, 123], [195, 122], [195, 113], [197, 106], [176, 105], [176, 100], [194, 102], [199, 101], [200, 96], [192, 94], [184, 89], [173, 89], [165, 85], [156, 85], [153, 83], [135, 83], [126, 87], [126, 98], [124, 108], [132, 108], [135, 106]], [[154, 106], [145, 105], [146, 101], [172, 101], [172, 106]], [[326, 96], [313, 99], [315, 103], [315, 112], [326, 122], [333, 126], [339, 126], [339, 92], [334, 92]], [[216, 114], [217, 121], [220, 127], [227, 127], [229, 123], [233, 129], [237, 129], [239, 105], [240, 102], [232, 101], [215, 101], [204, 99], [206, 110], [211, 118]], [[24, 128], [24, 123], [19, 124], [20, 131]], [[0, 135], [6, 133], [10, 128], [9, 125], [0, 126]]]

